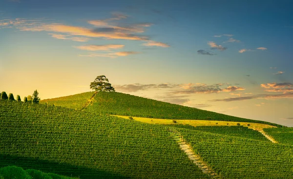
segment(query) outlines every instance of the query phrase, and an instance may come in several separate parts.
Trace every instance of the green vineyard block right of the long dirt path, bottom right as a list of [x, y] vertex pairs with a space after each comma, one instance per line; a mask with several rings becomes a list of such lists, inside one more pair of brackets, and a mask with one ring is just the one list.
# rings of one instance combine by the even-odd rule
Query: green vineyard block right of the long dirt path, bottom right
[[176, 128], [205, 162], [225, 179], [292, 179], [290, 145]]

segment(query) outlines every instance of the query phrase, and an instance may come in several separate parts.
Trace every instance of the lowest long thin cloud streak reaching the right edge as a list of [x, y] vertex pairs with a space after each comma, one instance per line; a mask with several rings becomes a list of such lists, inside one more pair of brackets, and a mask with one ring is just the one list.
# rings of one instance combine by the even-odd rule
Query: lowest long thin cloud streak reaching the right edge
[[214, 99], [211, 101], [242, 101], [242, 100], [248, 100], [248, 99], [277, 99], [277, 98], [292, 98], [293, 92], [286, 93], [286, 94], [257, 94], [257, 95], [251, 95], [251, 96], [243, 96], [243, 97], [232, 97], [232, 98], [225, 98], [225, 99]]

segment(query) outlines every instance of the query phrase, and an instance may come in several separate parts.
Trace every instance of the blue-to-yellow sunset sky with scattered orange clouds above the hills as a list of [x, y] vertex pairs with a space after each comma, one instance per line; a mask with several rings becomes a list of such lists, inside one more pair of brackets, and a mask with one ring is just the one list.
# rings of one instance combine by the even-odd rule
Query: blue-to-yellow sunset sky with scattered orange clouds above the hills
[[0, 91], [118, 92], [293, 127], [292, 0], [0, 0]]

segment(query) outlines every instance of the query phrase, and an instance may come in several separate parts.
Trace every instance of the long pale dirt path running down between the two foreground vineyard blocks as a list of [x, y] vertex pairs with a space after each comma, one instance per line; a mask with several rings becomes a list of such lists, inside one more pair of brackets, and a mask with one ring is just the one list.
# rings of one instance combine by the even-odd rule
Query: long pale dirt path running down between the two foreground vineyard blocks
[[196, 155], [191, 146], [186, 142], [185, 139], [183, 139], [183, 137], [174, 129], [170, 129], [168, 130], [170, 132], [170, 134], [172, 135], [172, 138], [178, 142], [181, 150], [183, 150], [186, 155], [188, 156], [188, 158], [195, 163], [201, 170], [203, 173], [209, 175], [209, 177], [211, 178], [218, 178], [218, 175], [212, 171], [211, 168], [209, 168], [209, 166], [201, 159], [201, 157], [199, 155]]

